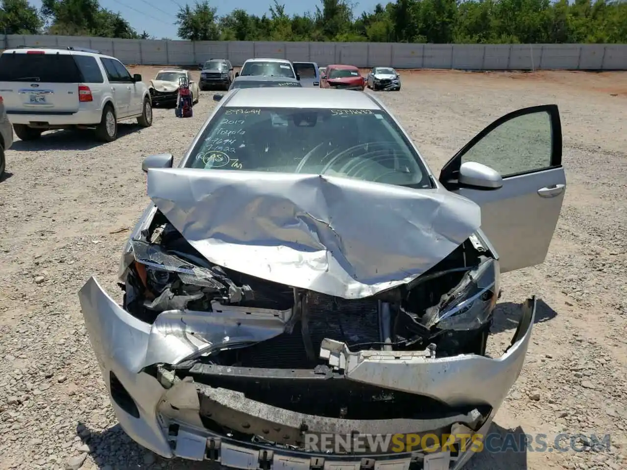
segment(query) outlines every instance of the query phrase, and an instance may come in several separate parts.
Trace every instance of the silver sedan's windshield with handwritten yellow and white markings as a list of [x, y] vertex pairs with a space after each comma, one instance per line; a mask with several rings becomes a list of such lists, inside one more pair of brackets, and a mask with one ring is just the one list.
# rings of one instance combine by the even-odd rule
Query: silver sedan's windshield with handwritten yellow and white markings
[[432, 187], [415, 150], [381, 110], [222, 108], [185, 166]]

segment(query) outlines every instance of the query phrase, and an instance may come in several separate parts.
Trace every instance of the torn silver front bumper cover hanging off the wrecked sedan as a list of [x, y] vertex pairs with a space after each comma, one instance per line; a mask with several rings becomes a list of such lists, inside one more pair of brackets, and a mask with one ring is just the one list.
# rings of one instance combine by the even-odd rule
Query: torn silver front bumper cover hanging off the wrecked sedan
[[[163, 457], [213, 459], [223, 466], [246, 470], [285, 470], [286, 467], [290, 470], [320, 467], [325, 470], [360, 470], [370, 466], [364, 462], [372, 462], [377, 470], [382, 470], [382, 467], [386, 470], [408, 470], [410, 464], [414, 467], [416, 462], [424, 470], [457, 470], [472, 456], [470, 449], [455, 456], [449, 451], [422, 455], [415, 451], [403, 454], [326, 454], [294, 451], [288, 447], [240, 441], [216, 434], [204, 426], [201, 414], [228, 415], [233, 420], [233, 426], [237, 426], [239, 421], [245, 429], [247, 426], [250, 428], [250, 423], [253, 427], [263, 426], [264, 420], [271, 417], [273, 424], [285, 426], [286, 431], [289, 431], [290, 423], [317, 420], [320, 424], [314, 423], [317, 428], [311, 431], [327, 432], [332, 429], [330, 425], [335, 432], [346, 426], [373, 432], [371, 426], [374, 422], [320, 420], [287, 410], [272, 410], [269, 405], [243, 396], [234, 397], [236, 392], [232, 390], [212, 389], [189, 379], [169, 381], [159, 374], [151, 375], [144, 370], [145, 367], [158, 362], [180, 363], [190, 353], [198, 351], [198, 345], [191, 341], [193, 335], [189, 329], [177, 329], [174, 323], [160, 318], [154, 325], [137, 320], [120, 308], [93, 277], [80, 290], [79, 298], [92, 347], [120, 425], [136, 442]], [[166, 314], [161, 315], [168, 316]], [[181, 313], [178, 316], [180, 320]], [[476, 412], [470, 412], [453, 420], [450, 417], [404, 420], [403, 427], [399, 425], [398, 428], [387, 429], [389, 426], [383, 426], [385, 429], [377, 432], [428, 432], [429, 429], [438, 429], [438, 432], [444, 430], [452, 434], [461, 426], [465, 432], [470, 429], [471, 433], [485, 435], [493, 415], [522, 370], [534, 316], [535, 298], [531, 298], [522, 309], [512, 345], [498, 358], [478, 355], [426, 358], [411, 352], [396, 355], [372, 351], [350, 353], [342, 347], [343, 343], [337, 342], [324, 342], [321, 349], [331, 364], [344, 365], [347, 380], [436, 398], [451, 407], [471, 405], [472, 408], [472, 405], [477, 405], [488, 410], [479, 418]], [[228, 325], [221, 328], [228, 328]], [[226, 333], [222, 330], [223, 336]], [[408, 373], [408, 368], [411, 368], [411, 373]], [[134, 402], [135, 412], [129, 413], [128, 407], [112, 395], [112, 376], [116, 383], [113, 392], [119, 396], [117, 389], [121, 386]], [[214, 419], [218, 419], [216, 415]], [[250, 422], [241, 420], [246, 415], [250, 417]], [[264, 463], [265, 459], [269, 459], [268, 464]]]

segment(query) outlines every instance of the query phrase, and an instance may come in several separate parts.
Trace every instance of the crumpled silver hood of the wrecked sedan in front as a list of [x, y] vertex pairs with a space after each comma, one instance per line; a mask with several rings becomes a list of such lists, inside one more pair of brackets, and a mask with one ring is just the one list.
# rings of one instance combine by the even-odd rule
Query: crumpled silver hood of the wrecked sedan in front
[[481, 222], [444, 189], [326, 175], [150, 169], [148, 196], [211, 263], [342, 298], [408, 283]]

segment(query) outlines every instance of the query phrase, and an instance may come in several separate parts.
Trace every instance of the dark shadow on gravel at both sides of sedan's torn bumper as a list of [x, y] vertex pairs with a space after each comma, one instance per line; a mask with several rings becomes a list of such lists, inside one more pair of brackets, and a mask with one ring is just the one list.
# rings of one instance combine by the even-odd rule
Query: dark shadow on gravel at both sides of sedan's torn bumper
[[[90, 454], [99, 469], [168, 469], [218, 470], [216, 462], [192, 462], [184, 459], [163, 459], [130, 439], [119, 424], [103, 431], [90, 431], [84, 424], [76, 426], [76, 434], [90, 447]], [[505, 429], [493, 423], [483, 439], [483, 449], [470, 457], [464, 470], [527, 470], [527, 437], [522, 427]], [[529, 444], [536, 451], [542, 446]]]

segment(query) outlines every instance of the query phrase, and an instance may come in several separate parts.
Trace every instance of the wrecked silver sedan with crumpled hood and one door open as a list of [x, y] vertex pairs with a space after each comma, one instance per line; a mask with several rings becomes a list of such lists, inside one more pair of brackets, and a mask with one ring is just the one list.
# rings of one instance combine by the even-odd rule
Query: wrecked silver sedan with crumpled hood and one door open
[[[515, 111], [437, 178], [367, 93], [229, 91], [177, 168], [144, 160], [123, 304], [95, 278], [79, 293], [120, 424], [163, 457], [246, 470], [459, 469], [461, 437], [378, 444], [486, 434], [535, 315], [531, 297], [487, 355], [500, 274], [545, 259], [561, 135], [555, 105]], [[383, 441], [307, 446], [329, 435]]]

